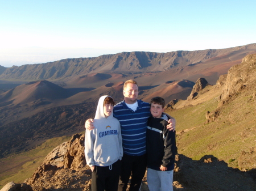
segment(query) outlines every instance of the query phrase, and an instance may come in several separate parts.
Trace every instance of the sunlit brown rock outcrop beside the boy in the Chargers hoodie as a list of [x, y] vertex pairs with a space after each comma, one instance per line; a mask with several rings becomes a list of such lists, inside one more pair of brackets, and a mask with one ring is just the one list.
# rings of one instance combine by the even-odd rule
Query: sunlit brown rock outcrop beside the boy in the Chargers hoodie
[[90, 169], [86, 167], [84, 134], [54, 148], [26, 184], [34, 190], [89, 190]]

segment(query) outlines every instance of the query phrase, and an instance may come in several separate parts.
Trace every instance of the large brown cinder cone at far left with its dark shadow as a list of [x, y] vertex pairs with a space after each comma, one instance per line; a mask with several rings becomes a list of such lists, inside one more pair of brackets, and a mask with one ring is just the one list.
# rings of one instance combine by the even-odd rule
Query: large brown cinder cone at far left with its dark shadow
[[[63, 88], [47, 80], [39, 80], [0, 92], [0, 128], [49, 108], [81, 104], [86, 100], [86, 92], [91, 90], [93, 88]], [[80, 92], [84, 92], [80, 99], [73, 97]]]

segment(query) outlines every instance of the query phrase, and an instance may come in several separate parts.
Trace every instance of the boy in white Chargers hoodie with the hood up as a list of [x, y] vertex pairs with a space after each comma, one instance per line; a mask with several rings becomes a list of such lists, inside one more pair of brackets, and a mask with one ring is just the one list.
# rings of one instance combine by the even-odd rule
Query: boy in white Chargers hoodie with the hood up
[[92, 191], [115, 191], [118, 188], [123, 156], [121, 127], [113, 117], [114, 100], [101, 96], [93, 130], [85, 131], [85, 159], [92, 169]]

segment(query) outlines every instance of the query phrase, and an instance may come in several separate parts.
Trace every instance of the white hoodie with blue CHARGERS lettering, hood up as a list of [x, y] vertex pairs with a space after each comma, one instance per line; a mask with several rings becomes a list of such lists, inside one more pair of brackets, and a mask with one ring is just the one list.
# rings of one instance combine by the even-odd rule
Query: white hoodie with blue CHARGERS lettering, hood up
[[119, 121], [113, 117], [113, 112], [106, 118], [103, 103], [106, 97], [101, 96], [94, 118], [94, 129], [85, 131], [85, 159], [93, 165], [108, 166], [122, 159], [122, 135]]

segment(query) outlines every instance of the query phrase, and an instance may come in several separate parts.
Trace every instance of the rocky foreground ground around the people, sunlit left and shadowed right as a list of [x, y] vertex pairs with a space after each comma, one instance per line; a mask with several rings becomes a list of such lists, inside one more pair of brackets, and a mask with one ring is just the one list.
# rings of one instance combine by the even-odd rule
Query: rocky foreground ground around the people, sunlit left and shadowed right
[[[256, 151], [251, 150], [250, 156], [255, 157]], [[198, 161], [176, 155], [175, 160], [174, 190], [256, 190], [256, 169], [242, 172], [212, 155]], [[30, 179], [23, 184], [9, 183], [1, 191], [14, 186], [13, 190], [85, 191], [90, 190], [90, 179], [91, 171], [84, 157], [84, 135], [76, 134], [71, 141], [53, 149]], [[146, 190], [145, 175], [142, 191]]]

